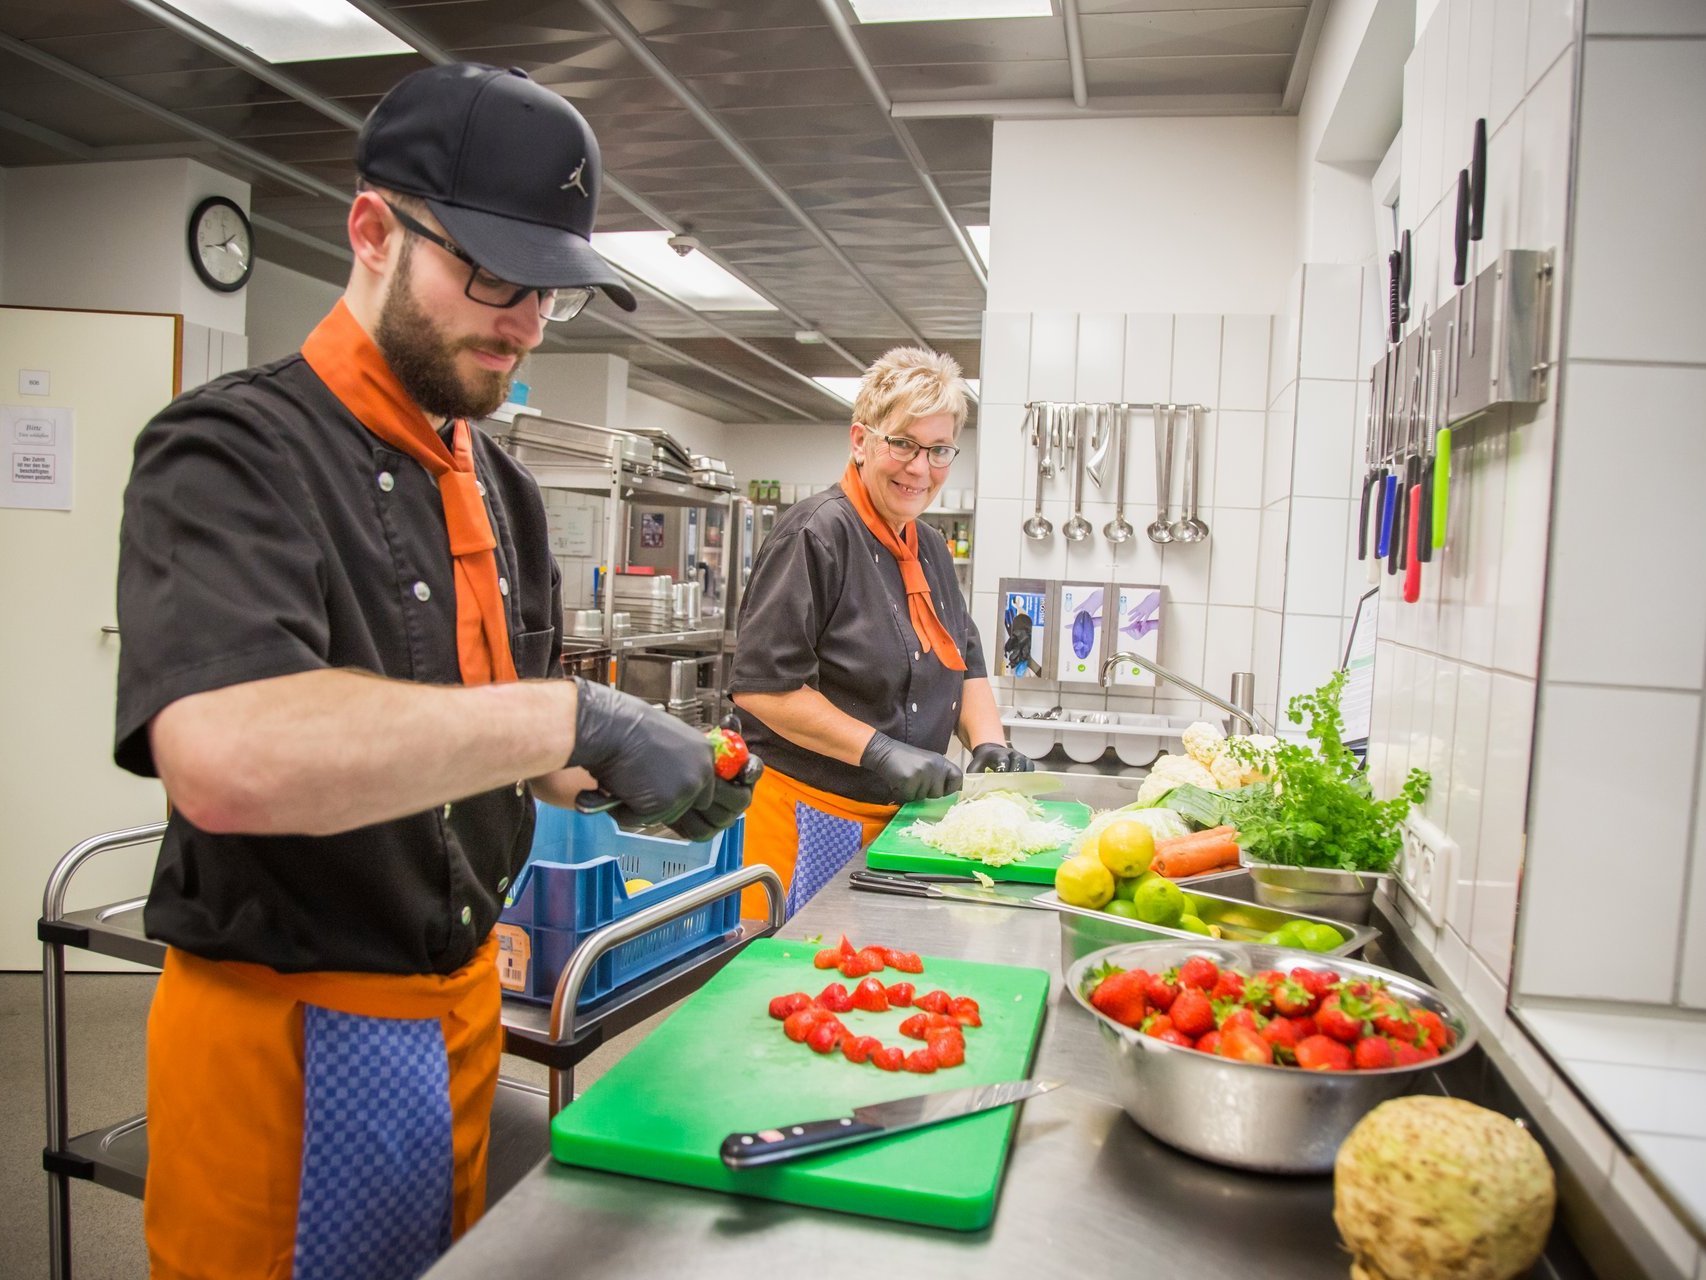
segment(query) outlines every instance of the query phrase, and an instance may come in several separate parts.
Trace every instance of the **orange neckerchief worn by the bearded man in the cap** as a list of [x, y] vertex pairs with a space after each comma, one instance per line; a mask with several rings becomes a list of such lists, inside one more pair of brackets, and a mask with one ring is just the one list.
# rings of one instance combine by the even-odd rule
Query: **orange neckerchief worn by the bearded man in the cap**
[[515, 679], [510, 630], [498, 591], [498, 558], [493, 555], [498, 539], [474, 476], [467, 422], [456, 420], [454, 451], [445, 449], [343, 299], [302, 343], [302, 358], [367, 430], [401, 449], [438, 481], [456, 568], [456, 654], [462, 683]]

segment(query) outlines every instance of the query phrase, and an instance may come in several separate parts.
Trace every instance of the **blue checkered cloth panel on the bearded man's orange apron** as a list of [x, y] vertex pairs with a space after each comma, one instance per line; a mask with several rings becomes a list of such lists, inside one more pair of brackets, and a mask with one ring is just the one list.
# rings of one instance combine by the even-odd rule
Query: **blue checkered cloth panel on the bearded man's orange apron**
[[450, 1063], [437, 1017], [302, 1009], [293, 1280], [413, 1280], [450, 1248]]

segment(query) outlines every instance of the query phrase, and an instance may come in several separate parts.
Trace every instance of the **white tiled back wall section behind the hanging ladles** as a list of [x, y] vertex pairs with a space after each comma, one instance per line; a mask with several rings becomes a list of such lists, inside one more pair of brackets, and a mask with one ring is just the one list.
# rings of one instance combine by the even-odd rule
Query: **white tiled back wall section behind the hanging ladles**
[[[1254, 667], [1257, 579], [1262, 567], [1262, 485], [1269, 331], [1268, 316], [1148, 316], [989, 312], [984, 316], [984, 399], [978, 452], [979, 550], [972, 565], [972, 611], [995, 642], [996, 592], [1003, 577], [1160, 582], [1167, 587], [1160, 662], [1223, 693], [1233, 671]], [[1015, 370], [1017, 375], [1015, 375]], [[1036, 452], [1024, 435], [1024, 404], [1053, 401], [1201, 403], [1199, 517], [1210, 539], [1158, 546], [1143, 529], [1155, 519], [1155, 416], [1134, 413], [1126, 461], [1126, 519], [1138, 529], [1128, 543], [1109, 543], [1102, 527], [1114, 515], [1112, 459], [1104, 486], [1085, 481], [1085, 519], [1095, 532], [1070, 543], [1061, 526], [1071, 514], [1070, 474], [1042, 481], [1042, 510], [1054, 524], [1046, 541], [1018, 526], [1037, 498]], [[1179, 515], [1184, 445], [1175, 427], [1172, 515]], [[1283, 555], [1285, 538], [1280, 536]], [[1283, 565], [1280, 567], [1283, 577]], [[1276, 672], [1278, 674], [1278, 664]], [[1102, 695], [1068, 686], [1085, 710], [1150, 710], [1150, 695]], [[1008, 693], [1007, 681], [998, 691]], [[1061, 689], [1047, 701], [1066, 701]], [[1257, 681], [1273, 701], [1274, 686]], [[1157, 707], [1157, 710], [1162, 710]], [[1196, 713], [1196, 705], [1187, 713]]]

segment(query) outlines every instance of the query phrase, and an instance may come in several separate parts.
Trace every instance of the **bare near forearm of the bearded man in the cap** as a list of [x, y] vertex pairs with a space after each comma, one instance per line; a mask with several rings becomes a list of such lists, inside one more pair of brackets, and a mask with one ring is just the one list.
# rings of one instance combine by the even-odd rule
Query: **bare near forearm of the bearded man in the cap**
[[305, 671], [179, 698], [148, 741], [196, 826], [329, 835], [563, 768], [573, 681], [474, 688]]

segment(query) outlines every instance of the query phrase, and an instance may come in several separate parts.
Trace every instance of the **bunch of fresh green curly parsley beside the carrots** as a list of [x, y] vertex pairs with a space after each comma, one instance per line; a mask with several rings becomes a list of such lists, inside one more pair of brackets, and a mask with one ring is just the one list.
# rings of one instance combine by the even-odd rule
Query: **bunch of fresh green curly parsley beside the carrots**
[[[1433, 778], [1411, 770], [1399, 794], [1375, 799], [1368, 775], [1344, 746], [1339, 671], [1314, 693], [1302, 693], [1286, 708], [1291, 724], [1303, 724], [1309, 742], [1286, 742], [1259, 753], [1245, 742], [1228, 742], [1239, 759], [1261, 763], [1268, 782], [1228, 792], [1228, 819], [1239, 828], [1239, 845], [1256, 862], [1281, 867], [1332, 870], [1390, 870], [1402, 847], [1404, 816], [1421, 804]], [[1237, 799], [1233, 799], [1237, 797]]]

